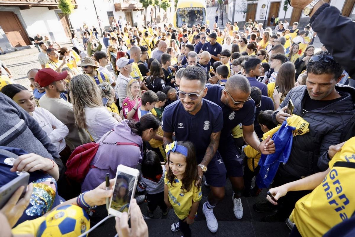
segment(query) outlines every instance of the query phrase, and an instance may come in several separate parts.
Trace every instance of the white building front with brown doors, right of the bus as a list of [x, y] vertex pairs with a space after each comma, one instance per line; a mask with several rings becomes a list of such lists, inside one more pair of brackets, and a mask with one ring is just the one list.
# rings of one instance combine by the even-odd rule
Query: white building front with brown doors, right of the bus
[[[329, 2], [330, 5], [337, 7], [343, 14], [355, 19], [355, 1], [354, 0], [323, 0]], [[294, 9], [289, 6], [287, 11], [284, 11], [284, 0], [229, 0], [228, 1], [228, 20], [238, 21], [244, 23], [249, 19], [252, 21], [258, 21], [266, 26], [270, 26], [270, 19], [272, 16], [279, 16], [281, 21], [284, 19], [290, 22], [290, 26], [293, 22], [297, 21], [300, 26], [303, 27], [309, 21], [309, 17], [303, 14], [300, 9]], [[234, 12], [233, 12], [233, 9]]]

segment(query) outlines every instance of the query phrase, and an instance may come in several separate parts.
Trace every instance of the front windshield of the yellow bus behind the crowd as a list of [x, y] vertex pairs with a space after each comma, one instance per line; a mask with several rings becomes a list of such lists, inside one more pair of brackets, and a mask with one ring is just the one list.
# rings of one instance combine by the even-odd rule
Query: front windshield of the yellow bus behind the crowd
[[205, 22], [206, 11], [204, 7], [183, 7], [176, 11], [176, 26], [181, 27], [182, 24], [186, 24], [191, 28], [192, 25], [201, 25]]

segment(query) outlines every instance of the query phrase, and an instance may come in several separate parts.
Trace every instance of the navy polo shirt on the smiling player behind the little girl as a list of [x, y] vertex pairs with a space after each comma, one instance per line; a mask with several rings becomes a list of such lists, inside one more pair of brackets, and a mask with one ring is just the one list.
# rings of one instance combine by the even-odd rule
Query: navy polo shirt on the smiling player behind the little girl
[[167, 133], [175, 132], [176, 141], [191, 141], [195, 145], [197, 162], [201, 162], [211, 142], [211, 134], [223, 128], [222, 109], [202, 99], [200, 111], [192, 115], [178, 100], [164, 109], [162, 128]]

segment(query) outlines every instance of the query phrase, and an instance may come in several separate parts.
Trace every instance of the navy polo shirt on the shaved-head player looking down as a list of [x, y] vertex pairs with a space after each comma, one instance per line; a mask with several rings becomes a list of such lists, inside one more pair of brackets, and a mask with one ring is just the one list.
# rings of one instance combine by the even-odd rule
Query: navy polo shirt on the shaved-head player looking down
[[[206, 84], [206, 87], [208, 88], [207, 95], [203, 98], [218, 104], [222, 108], [223, 129], [220, 140], [230, 137], [231, 130], [238, 124], [249, 126], [254, 123], [255, 102], [252, 99], [245, 102], [241, 109], [233, 111], [220, 100], [224, 86]], [[221, 144], [221, 142], [219, 143]]]

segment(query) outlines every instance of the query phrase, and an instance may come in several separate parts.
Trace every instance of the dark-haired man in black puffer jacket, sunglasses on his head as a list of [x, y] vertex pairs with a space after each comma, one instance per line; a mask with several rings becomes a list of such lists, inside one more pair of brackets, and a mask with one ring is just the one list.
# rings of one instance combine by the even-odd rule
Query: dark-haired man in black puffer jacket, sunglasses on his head
[[[342, 132], [355, 113], [355, 89], [336, 85], [344, 75], [343, 68], [328, 51], [312, 56], [307, 65], [307, 83], [295, 87], [273, 114], [275, 124], [291, 115], [285, 113], [289, 100], [294, 104], [293, 114], [304, 118], [309, 133], [294, 136], [289, 160], [280, 165], [273, 186], [296, 181], [328, 168], [328, 148], [339, 144]], [[283, 221], [290, 214], [296, 201], [311, 191], [289, 192], [278, 201], [278, 212], [264, 217], [264, 221]], [[257, 203], [259, 212], [270, 210], [265, 203]]]

